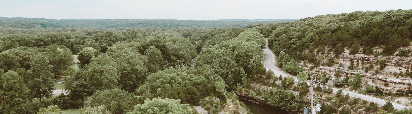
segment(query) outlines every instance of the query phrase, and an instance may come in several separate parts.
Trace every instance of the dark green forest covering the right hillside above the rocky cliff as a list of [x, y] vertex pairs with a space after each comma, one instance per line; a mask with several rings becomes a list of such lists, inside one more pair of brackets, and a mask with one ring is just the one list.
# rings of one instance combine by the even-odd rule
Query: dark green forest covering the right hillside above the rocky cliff
[[[356, 11], [319, 15], [279, 26], [269, 37], [269, 47], [283, 51], [295, 60], [304, 60], [302, 52], [329, 48], [335, 56], [345, 47], [363, 47], [364, 54], [383, 45], [378, 55], [392, 55], [395, 49], [409, 46], [412, 40], [412, 10]], [[318, 52], [316, 52], [318, 53]], [[358, 53], [358, 52], [356, 52]]]

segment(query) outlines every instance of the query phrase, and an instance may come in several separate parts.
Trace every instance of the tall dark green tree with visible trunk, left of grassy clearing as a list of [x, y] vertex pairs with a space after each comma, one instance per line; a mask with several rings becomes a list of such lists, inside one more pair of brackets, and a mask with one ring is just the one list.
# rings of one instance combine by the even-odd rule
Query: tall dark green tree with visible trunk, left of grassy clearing
[[34, 98], [51, 98], [53, 93], [54, 74], [52, 65], [49, 65], [49, 58], [43, 54], [33, 56], [31, 68], [29, 70], [30, 90]]

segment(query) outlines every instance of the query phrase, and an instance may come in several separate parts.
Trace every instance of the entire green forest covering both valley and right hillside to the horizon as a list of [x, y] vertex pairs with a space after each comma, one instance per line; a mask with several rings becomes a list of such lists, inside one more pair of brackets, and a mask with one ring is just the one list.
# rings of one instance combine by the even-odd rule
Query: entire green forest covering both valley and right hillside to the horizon
[[[305, 95], [308, 85], [301, 82], [310, 77], [297, 62], [319, 65], [314, 56], [324, 48], [335, 56], [346, 47], [353, 54], [363, 49], [363, 54], [392, 55], [409, 46], [411, 18], [412, 10], [402, 9], [258, 22], [1, 18], [0, 106], [5, 108], [0, 112], [81, 108], [87, 114], [141, 114], [158, 107], [192, 114], [189, 107], [201, 105], [217, 114], [227, 98], [236, 100], [233, 91], [297, 111], [304, 103], [289, 89]], [[266, 38], [279, 67], [299, 77], [298, 86], [292, 77], [274, 77], [263, 67]], [[379, 45], [384, 50], [373, 51]], [[42, 102], [52, 98], [54, 77], [60, 75], [66, 76], [67, 95]], [[273, 91], [250, 92], [252, 83]], [[40, 103], [27, 109], [34, 100]]]

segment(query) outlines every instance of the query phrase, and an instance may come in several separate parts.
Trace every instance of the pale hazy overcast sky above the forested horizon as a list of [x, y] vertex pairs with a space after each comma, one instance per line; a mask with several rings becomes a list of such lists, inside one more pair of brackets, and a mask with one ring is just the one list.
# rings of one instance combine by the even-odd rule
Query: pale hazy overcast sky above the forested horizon
[[0, 0], [0, 17], [46, 19], [301, 19], [412, 9], [412, 0]]

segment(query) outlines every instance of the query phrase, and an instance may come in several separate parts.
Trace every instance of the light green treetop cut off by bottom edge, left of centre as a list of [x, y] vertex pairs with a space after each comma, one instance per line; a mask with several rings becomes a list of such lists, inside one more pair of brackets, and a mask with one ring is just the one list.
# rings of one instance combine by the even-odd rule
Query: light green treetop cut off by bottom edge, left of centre
[[127, 114], [192, 114], [188, 104], [180, 104], [180, 100], [169, 98], [153, 98], [152, 100], [146, 99], [144, 104], [136, 105], [134, 108], [135, 109], [132, 112], [128, 112]]

